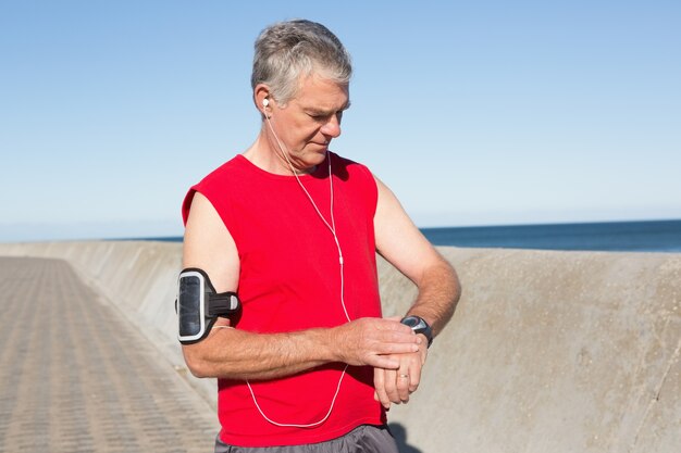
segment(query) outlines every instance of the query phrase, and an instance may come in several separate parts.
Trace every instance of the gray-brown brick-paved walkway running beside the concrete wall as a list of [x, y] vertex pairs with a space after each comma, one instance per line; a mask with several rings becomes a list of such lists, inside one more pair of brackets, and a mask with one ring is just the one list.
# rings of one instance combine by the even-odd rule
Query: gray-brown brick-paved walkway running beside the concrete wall
[[216, 429], [65, 261], [0, 257], [0, 452], [211, 452]]

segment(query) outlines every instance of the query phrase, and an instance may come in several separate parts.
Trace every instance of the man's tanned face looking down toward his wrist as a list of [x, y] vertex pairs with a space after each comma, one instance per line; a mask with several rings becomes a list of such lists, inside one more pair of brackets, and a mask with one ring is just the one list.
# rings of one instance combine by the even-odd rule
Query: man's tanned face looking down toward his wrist
[[310, 171], [324, 161], [329, 143], [340, 135], [340, 118], [348, 106], [347, 85], [317, 75], [302, 79], [286, 105], [273, 106], [271, 125], [297, 171]]

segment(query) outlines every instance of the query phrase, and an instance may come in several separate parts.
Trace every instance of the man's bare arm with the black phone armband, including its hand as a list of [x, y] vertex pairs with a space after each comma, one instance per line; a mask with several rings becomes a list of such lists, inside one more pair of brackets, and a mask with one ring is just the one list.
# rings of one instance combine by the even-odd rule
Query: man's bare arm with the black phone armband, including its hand
[[[237, 290], [236, 244], [213, 205], [198, 192], [187, 218], [183, 267], [203, 269], [218, 292]], [[330, 362], [395, 369], [399, 363], [389, 354], [426, 347], [409, 327], [381, 318], [286, 334], [233, 329], [224, 318], [219, 318], [215, 326], [205, 340], [182, 347], [187, 366], [198, 377], [274, 379]]]

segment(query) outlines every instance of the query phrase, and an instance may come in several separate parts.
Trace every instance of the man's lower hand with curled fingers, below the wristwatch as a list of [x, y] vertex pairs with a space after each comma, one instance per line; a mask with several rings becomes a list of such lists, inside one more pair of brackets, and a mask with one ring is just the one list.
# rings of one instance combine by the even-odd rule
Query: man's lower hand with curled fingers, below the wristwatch
[[389, 408], [391, 403], [400, 404], [409, 402], [409, 395], [417, 391], [421, 382], [421, 369], [428, 356], [428, 340], [419, 335], [423, 347], [418, 352], [406, 354], [393, 354], [387, 357], [399, 362], [397, 368], [374, 368], [373, 383], [376, 389], [374, 398], [383, 407]]

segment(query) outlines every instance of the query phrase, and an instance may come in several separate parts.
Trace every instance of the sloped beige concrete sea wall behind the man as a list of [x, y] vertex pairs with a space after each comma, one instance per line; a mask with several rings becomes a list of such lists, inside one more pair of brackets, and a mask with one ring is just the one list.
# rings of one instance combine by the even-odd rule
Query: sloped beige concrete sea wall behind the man
[[[463, 298], [421, 388], [391, 410], [404, 451], [681, 451], [680, 254], [441, 251]], [[175, 340], [179, 244], [0, 244], [0, 254], [70, 261], [214, 402], [214, 381], [188, 376]], [[380, 273], [385, 315], [403, 314], [414, 288], [383, 262]]]

